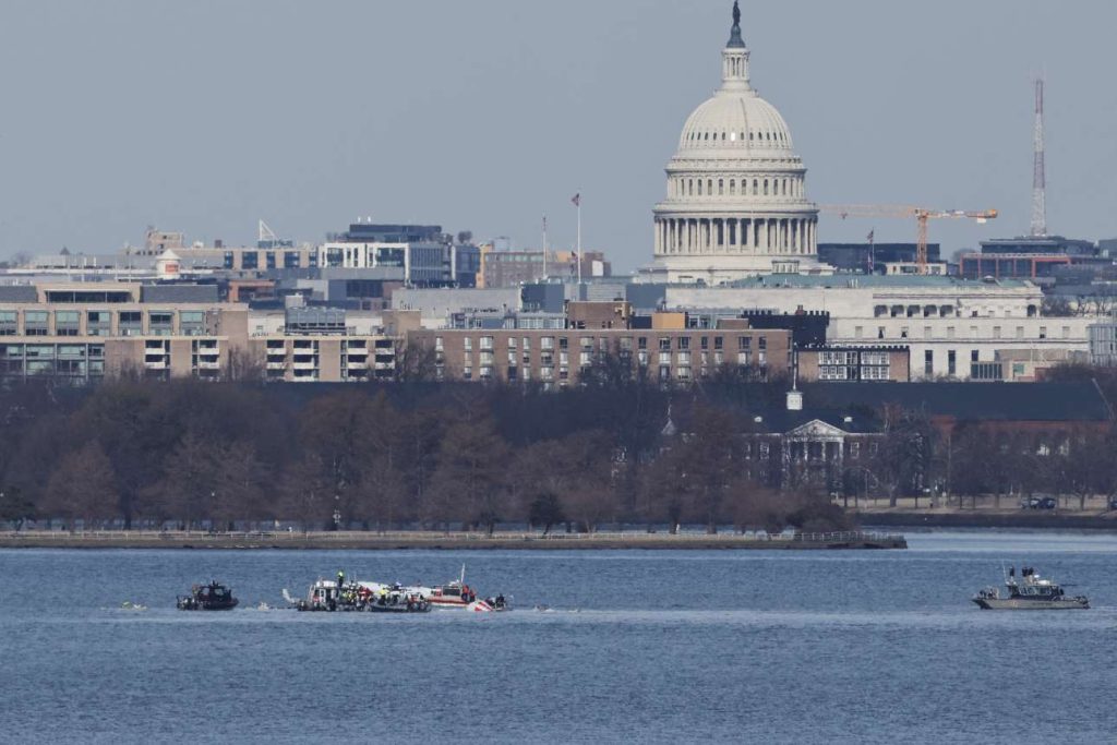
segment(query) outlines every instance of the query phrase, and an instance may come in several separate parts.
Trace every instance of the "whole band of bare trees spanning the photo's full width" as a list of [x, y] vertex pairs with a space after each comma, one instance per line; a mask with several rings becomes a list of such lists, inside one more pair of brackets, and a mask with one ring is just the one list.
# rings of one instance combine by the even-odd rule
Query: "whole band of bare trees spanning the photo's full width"
[[[1087, 372], [1097, 371], [1058, 375]], [[1099, 385], [1117, 392], [1117, 375]], [[785, 457], [793, 446], [775, 438], [762, 458], [747, 445], [758, 442], [752, 412], [781, 405], [785, 390], [736, 380], [671, 390], [608, 369], [557, 392], [423, 381], [0, 388], [0, 522], [817, 531], [849, 526], [836, 497], [975, 505], [1054, 493], [1083, 507], [1117, 495], [1111, 427], [944, 430], [925, 413], [881, 407], [857, 412], [876, 432], [859, 457]]]

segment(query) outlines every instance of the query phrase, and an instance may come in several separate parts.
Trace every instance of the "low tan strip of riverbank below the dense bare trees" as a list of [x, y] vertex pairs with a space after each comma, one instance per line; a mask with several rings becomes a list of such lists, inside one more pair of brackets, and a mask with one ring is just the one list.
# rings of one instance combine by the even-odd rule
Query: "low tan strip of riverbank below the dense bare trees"
[[6, 548], [300, 548], [300, 550], [869, 550], [907, 548], [903, 535], [842, 532], [756, 535], [719, 533], [433, 533], [166, 531], [19, 531], [0, 534]]

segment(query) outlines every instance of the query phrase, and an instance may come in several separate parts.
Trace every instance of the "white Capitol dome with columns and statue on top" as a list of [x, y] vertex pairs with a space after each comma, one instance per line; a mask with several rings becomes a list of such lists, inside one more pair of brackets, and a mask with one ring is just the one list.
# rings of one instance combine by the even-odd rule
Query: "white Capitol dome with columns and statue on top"
[[780, 112], [752, 87], [741, 12], [722, 52], [722, 87], [682, 127], [655, 208], [653, 281], [717, 285], [766, 274], [829, 274], [817, 257], [818, 207]]

